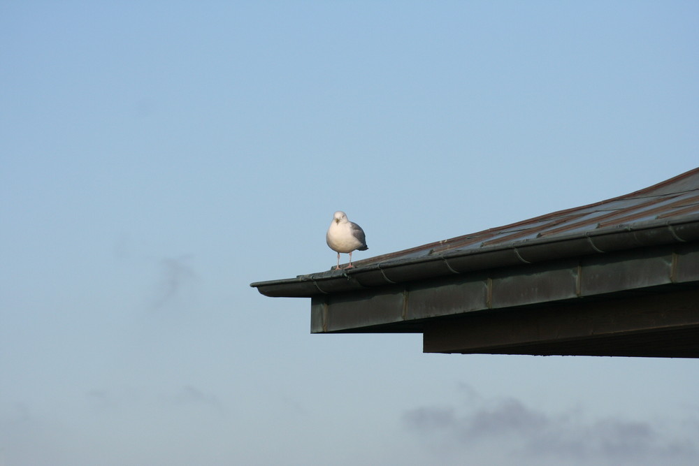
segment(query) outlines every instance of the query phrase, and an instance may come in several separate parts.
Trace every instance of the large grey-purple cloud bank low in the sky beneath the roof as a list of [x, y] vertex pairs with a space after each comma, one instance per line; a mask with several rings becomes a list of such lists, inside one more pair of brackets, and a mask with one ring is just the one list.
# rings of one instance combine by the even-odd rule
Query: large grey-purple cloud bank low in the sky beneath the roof
[[487, 399], [473, 393], [463, 406], [418, 407], [405, 411], [402, 421], [435, 451], [489, 445], [533, 464], [539, 460], [689, 464], [699, 453], [694, 440], [699, 429], [678, 438], [647, 421], [613, 417], [586, 421], [579, 411], [552, 416], [516, 398]]

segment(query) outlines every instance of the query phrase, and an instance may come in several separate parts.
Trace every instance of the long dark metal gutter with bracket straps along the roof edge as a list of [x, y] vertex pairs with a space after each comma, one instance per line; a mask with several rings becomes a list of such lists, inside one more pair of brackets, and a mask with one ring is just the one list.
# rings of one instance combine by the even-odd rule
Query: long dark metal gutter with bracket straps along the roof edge
[[273, 298], [310, 298], [476, 270], [697, 240], [699, 215], [689, 215], [520, 240], [502, 245], [453, 249], [440, 254], [427, 252], [423, 256], [413, 256], [409, 259], [388, 259], [349, 270], [330, 270], [298, 275], [296, 278], [254, 282], [250, 286], [257, 288], [264, 296]]

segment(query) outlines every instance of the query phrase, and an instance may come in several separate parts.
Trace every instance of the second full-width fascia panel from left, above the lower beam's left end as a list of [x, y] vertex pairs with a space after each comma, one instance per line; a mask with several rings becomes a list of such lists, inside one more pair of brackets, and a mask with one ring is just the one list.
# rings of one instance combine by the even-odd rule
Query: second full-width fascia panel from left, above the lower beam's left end
[[488, 279], [483, 275], [420, 283], [408, 291], [405, 319], [425, 319], [487, 309], [487, 283]]

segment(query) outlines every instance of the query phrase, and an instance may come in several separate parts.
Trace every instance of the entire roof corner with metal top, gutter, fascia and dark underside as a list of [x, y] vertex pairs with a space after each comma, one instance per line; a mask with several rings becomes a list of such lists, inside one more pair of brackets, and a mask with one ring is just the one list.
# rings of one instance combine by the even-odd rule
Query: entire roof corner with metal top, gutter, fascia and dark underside
[[252, 286], [310, 297], [312, 333], [423, 333], [425, 352], [697, 358], [698, 212], [699, 169], [349, 270]]

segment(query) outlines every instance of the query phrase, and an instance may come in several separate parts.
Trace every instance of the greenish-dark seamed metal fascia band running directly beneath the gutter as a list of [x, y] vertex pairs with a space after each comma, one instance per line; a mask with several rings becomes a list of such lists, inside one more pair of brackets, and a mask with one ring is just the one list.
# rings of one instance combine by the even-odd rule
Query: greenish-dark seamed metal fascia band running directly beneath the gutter
[[697, 243], [635, 249], [324, 295], [312, 300], [312, 331], [382, 326], [386, 332], [401, 332], [410, 321], [437, 316], [693, 282], [699, 280], [698, 254]]

